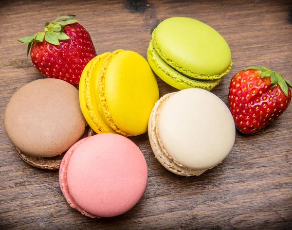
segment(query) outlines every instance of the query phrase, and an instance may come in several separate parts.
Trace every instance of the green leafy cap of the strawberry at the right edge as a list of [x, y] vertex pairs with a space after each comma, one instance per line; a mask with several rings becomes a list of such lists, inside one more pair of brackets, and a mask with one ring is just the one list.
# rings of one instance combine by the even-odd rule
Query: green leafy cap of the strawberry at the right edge
[[271, 79], [271, 88], [275, 87], [277, 84], [280, 86], [282, 91], [286, 96], [288, 96], [288, 90], [292, 88], [292, 83], [284, 78], [280, 73], [277, 73], [275, 71], [271, 71], [265, 67], [260, 66], [250, 66], [245, 68], [244, 70], [258, 70], [261, 71], [260, 76], [263, 77], [270, 77]]

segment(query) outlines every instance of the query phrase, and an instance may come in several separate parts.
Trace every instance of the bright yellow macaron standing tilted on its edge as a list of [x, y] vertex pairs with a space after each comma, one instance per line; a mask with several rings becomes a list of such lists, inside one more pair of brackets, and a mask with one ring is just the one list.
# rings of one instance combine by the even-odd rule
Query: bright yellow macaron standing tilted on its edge
[[96, 133], [126, 137], [145, 133], [158, 99], [154, 73], [145, 58], [133, 51], [117, 50], [96, 56], [80, 78], [80, 107]]

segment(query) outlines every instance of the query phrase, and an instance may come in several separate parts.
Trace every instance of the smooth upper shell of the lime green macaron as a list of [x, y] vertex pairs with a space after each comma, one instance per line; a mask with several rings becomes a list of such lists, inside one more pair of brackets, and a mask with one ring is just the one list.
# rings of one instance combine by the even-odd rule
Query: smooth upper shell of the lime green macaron
[[201, 21], [167, 18], [157, 26], [152, 38], [164, 61], [189, 76], [217, 75], [231, 65], [231, 51], [225, 39]]

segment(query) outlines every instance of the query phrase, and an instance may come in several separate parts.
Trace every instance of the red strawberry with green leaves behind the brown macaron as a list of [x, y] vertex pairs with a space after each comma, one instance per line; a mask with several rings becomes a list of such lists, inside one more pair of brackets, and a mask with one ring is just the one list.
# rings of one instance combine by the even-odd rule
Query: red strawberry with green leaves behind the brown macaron
[[[89, 33], [77, 23], [75, 15], [57, 17], [45, 24], [45, 30], [31, 37], [18, 39], [28, 43], [31, 58], [39, 72], [78, 86], [86, 64], [96, 56]], [[69, 20], [68, 20], [69, 19]]]

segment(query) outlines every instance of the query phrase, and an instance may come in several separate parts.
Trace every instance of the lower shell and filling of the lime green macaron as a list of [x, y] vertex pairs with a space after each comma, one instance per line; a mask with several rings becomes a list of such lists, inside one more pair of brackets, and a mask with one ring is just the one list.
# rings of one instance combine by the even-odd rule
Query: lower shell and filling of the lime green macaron
[[[211, 90], [222, 81], [222, 78], [215, 79], [215, 80], [201, 80], [191, 78], [174, 68], [168, 65], [155, 51], [153, 47], [153, 41], [151, 40], [149, 43], [149, 47], [147, 50], [147, 59], [149, 65], [155, 72], [169, 85], [183, 89], [183, 88], [203, 88], [206, 90]], [[161, 71], [159, 73], [158, 71]], [[164, 77], [164, 74], [167, 76]], [[169, 79], [171, 78], [171, 79]]]

